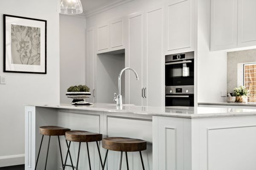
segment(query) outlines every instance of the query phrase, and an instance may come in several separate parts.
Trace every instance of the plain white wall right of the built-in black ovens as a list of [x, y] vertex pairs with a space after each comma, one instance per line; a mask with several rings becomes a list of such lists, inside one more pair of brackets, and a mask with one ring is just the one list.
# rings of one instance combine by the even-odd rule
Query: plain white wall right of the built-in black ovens
[[210, 0], [198, 0], [198, 102], [224, 102], [227, 90], [227, 52], [210, 49]]

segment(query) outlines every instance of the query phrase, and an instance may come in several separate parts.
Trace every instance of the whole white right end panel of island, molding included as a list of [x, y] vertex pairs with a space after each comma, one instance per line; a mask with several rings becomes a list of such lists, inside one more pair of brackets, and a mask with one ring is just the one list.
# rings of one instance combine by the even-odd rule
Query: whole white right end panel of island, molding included
[[192, 121], [192, 157], [198, 156], [200, 160], [195, 159], [199, 168], [193, 166], [192, 170], [256, 169], [256, 116], [200, 118]]

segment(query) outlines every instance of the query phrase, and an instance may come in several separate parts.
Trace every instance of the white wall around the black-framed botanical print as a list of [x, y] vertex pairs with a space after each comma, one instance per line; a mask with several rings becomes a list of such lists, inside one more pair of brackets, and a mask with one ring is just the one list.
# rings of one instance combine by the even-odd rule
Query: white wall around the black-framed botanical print
[[[0, 1], [0, 167], [24, 164], [26, 103], [59, 102], [58, 0]], [[47, 74], [3, 73], [3, 14], [47, 20]]]

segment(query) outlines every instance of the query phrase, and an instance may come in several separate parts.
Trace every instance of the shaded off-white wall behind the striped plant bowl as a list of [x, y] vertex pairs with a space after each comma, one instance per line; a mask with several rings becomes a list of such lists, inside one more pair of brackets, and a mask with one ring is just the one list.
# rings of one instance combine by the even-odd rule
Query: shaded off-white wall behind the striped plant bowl
[[60, 101], [70, 103], [65, 96], [71, 85], [85, 83], [85, 28], [84, 17], [60, 15]]

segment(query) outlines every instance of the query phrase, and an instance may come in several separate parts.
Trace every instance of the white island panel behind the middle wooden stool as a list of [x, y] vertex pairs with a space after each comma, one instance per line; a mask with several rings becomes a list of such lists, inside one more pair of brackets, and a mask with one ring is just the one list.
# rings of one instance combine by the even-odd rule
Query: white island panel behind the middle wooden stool
[[[58, 126], [68, 127], [71, 130], [85, 130], [95, 133], [103, 133], [103, 112], [99, 111], [81, 111], [81, 110], [69, 110], [69, 109], [59, 109], [58, 111]], [[93, 170], [100, 169], [99, 153], [97, 150], [96, 142], [89, 142], [89, 154], [91, 168]], [[99, 142], [99, 147], [102, 154], [102, 159], [104, 159], [104, 152], [102, 149], [101, 142]], [[73, 164], [76, 165], [77, 154], [78, 154], [79, 142], [71, 142], [70, 153], [73, 159]], [[64, 157], [67, 153], [67, 144], [64, 139], [61, 138], [61, 149]], [[59, 152], [59, 151], [58, 151]], [[67, 164], [71, 164], [70, 159], [67, 159]], [[58, 165], [61, 165], [60, 156], [58, 156]], [[61, 168], [61, 167], [59, 167]], [[89, 168], [87, 145], [86, 143], [81, 143], [80, 157], [79, 157], [79, 167], [78, 169]], [[72, 168], [67, 167], [65, 170], [71, 170]]]

